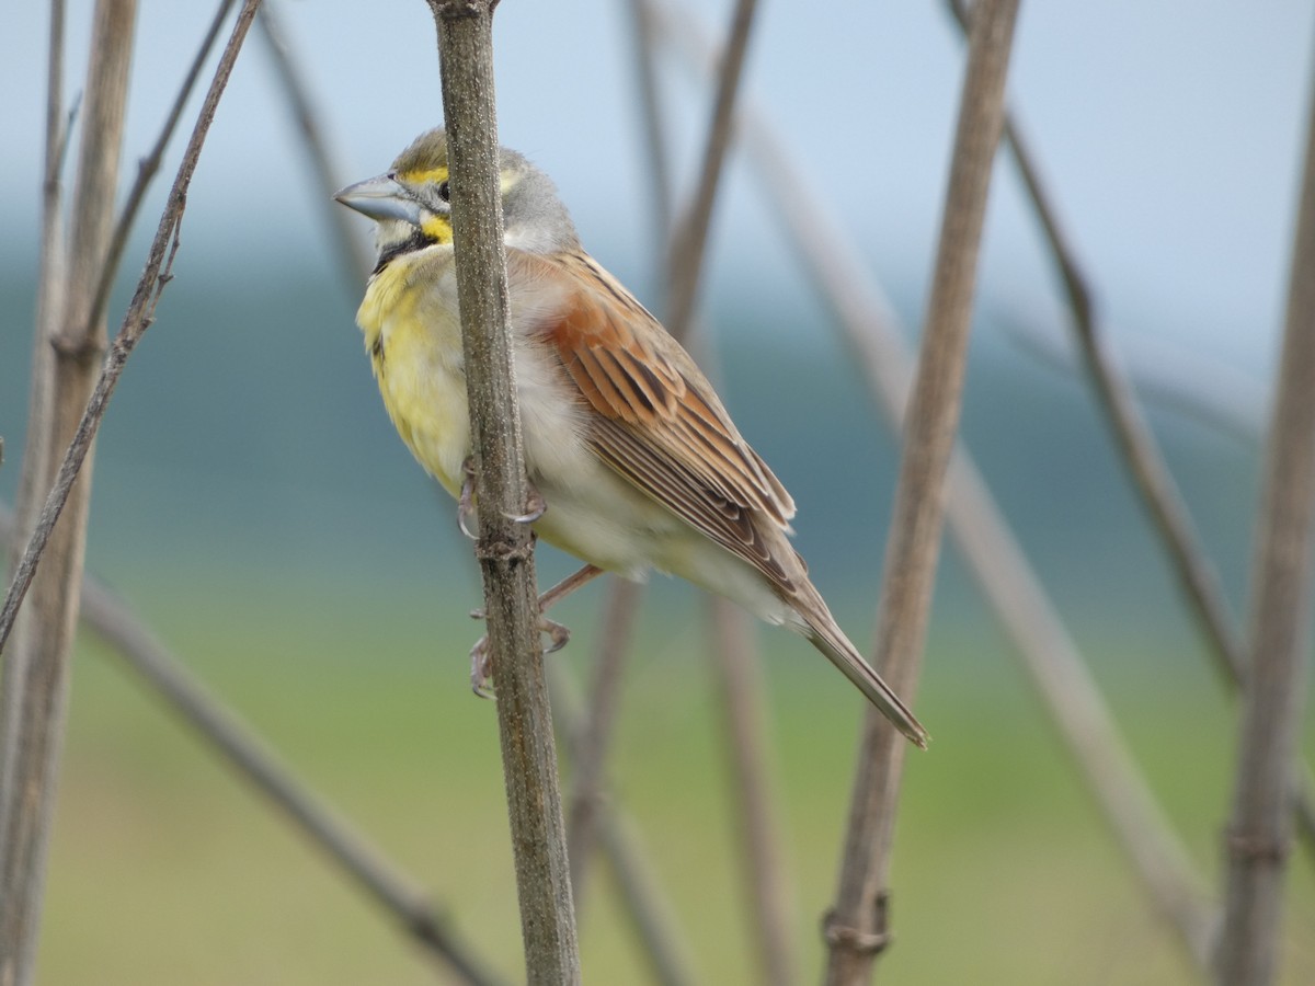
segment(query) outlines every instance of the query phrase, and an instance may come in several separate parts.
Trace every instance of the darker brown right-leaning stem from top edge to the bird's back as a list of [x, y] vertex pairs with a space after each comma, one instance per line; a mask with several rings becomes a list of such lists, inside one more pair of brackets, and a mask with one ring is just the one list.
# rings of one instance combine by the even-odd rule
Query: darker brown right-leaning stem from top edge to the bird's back
[[753, 13], [757, 0], [736, 0], [731, 16], [731, 26], [726, 35], [726, 49], [722, 53], [717, 75], [717, 96], [713, 103], [713, 118], [707, 126], [707, 143], [704, 146], [702, 168], [698, 185], [681, 213], [680, 222], [672, 230], [671, 252], [667, 262], [667, 330], [677, 339], [684, 339], [689, 322], [694, 316], [694, 302], [698, 298], [698, 283], [704, 270], [704, 254], [707, 247], [707, 230], [713, 221], [713, 204], [717, 201], [717, 188], [722, 177], [722, 164], [726, 149], [731, 141], [731, 117], [735, 110], [735, 96], [739, 93], [744, 74], [744, 53], [748, 50], [750, 29], [753, 26]]

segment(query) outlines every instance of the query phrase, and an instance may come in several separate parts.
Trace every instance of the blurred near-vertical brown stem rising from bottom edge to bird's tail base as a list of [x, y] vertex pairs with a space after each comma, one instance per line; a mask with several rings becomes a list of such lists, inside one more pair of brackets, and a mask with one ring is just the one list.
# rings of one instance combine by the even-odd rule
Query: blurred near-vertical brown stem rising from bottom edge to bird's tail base
[[798, 982], [790, 902], [781, 849], [777, 799], [768, 768], [768, 724], [761, 661], [753, 651], [748, 617], [723, 599], [709, 603], [726, 710], [726, 748], [734, 782], [735, 841], [743, 849], [746, 897], [756, 936], [755, 982], [789, 986]]

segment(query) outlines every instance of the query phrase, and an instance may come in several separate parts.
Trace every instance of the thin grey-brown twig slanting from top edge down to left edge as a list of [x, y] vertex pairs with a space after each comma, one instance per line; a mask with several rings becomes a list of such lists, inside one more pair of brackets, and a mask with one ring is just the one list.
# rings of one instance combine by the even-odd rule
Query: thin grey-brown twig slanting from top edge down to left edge
[[159, 294], [171, 277], [167, 259], [176, 250], [179, 225], [183, 221], [183, 210], [187, 206], [187, 189], [192, 183], [192, 175], [196, 171], [201, 147], [205, 145], [205, 137], [214, 120], [214, 110], [218, 108], [220, 96], [224, 93], [229, 75], [233, 72], [233, 64], [237, 60], [238, 51], [242, 49], [242, 41], [246, 38], [247, 29], [251, 26], [251, 20], [255, 17], [255, 11], [259, 5], [260, 0], [245, 0], [229, 43], [220, 58], [220, 64], [214, 70], [214, 79], [210, 83], [209, 92], [205, 95], [205, 103], [201, 105], [196, 129], [192, 131], [192, 138], [183, 154], [183, 162], [179, 164], [178, 176], [174, 179], [174, 187], [170, 191], [164, 214], [160, 217], [160, 225], [151, 243], [150, 254], [146, 259], [146, 270], [137, 283], [137, 291], [133, 293], [124, 323], [110, 343], [104, 368], [96, 381], [96, 389], [87, 401], [87, 409], [78, 423], [76, 434], [68, 446], [63, 464], [59, 467], [59, 475], [50, 494], [46, 497], [41, 518], [33, 531], [32, 539], [28, 542], [28, 548], [22, 553], [9, 592], [5, 596], [4, 609], [0, 610], [0, 648], [4, 647], [5, 640], [9, 638], [14, 615], [22, 603], [22, 597], [32, 585], [41, 553], [45, 551], [50, 532], [59, 519], [64, 504], [68, 501], [68, 492], [72, 488], [74, 480], [78, 479], [78, 472], [83, 467], [92, 439], [100, 429], [105, 408], [114, 392], [114, 387], [118, 384], [120, 376], [122, 376], [128, 358], [137, 343], [141, 342], [146, 329], [150, 327]]

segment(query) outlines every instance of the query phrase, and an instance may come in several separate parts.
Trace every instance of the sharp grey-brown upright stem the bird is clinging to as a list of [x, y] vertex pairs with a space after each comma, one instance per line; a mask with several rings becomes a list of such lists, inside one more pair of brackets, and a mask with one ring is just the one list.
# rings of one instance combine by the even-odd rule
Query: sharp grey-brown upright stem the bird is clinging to
[[492, 0], [427, 0], [438, 26], [452, 242], [480, 484], [484, 607], [531, 983], [580, 979], [552, 714], [543, 678], [521, 415], [512, 369], [493, 100]]

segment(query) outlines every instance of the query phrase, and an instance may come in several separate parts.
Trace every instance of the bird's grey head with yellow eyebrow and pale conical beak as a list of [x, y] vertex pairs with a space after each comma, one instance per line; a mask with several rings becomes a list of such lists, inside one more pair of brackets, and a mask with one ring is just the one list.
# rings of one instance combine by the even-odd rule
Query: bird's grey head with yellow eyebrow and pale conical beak
[[[548, 254], [577, 246], [575, 226], [552, 180], [523, 155], [498, 149], [502, 227], [509, 247]], [[429, 130], [383, 175], [347, 185], [334, 199], [376, 223], [379, 266], [394, 256], [452, 242], [447, 134]]]

